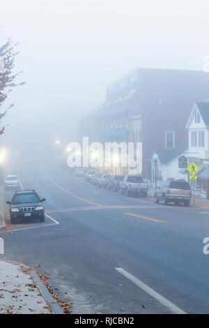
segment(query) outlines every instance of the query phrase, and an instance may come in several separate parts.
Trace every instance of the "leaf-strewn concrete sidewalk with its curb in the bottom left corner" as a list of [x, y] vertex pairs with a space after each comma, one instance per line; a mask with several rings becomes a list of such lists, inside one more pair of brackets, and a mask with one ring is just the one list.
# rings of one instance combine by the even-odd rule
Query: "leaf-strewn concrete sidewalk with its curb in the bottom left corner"
[[61, 314], [35, 271], [23, 264], [0, 260], [1, 314]]

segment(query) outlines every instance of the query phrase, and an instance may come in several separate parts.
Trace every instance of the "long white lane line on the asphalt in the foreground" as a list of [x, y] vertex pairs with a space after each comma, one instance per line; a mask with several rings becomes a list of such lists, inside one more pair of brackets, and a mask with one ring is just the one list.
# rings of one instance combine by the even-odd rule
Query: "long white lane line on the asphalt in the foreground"
[[173, 304], [171, 301], [160, 295], [158, 292], [155, 292], [152, 288], [150, 288], [148, 285], [137, 279], [136, 277], [132, 276], [129, 272], [122, 268], [115, 268], [116, 271], [118, 271], [120, 274], [123, 274], [127, 279], [132, 281], [135, 285], [137, 285], [139, 288], [147, 292], [150, 296], [152, 296], [154, 299], [157, 299], [157, 301], [160, 301], [161, 304], [166, 306], [167, 308], [170, 308], [170, 310], [177, 314], [186, 314], [185, 311], [183, 311], [181, 308], [178, 308], [175, 304]]

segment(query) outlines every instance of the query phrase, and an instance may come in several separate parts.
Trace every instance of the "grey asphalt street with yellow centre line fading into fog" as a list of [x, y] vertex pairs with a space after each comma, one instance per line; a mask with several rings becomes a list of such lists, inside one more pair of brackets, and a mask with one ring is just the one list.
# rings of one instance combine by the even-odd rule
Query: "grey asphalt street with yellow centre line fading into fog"
[[46, 198], [46, 221], [14, 225], [5, 257], [48, 276], [72, 313], [207, 311], [208, 211], [118, 195], [52, 163], [18, 171], [22, 188]]

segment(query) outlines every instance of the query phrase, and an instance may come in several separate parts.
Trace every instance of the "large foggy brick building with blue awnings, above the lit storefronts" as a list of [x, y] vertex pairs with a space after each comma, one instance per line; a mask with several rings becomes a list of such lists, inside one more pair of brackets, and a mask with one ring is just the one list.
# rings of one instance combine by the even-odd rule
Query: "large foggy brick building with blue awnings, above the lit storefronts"
[[183, 142], [192, 105], [206, 98], [207, 73], [137, 68], [107, 87], [104, 103], [82, 119], [79, 135], [102, 143], [142, 142], [142, 174], [149, 179], [153, 151]]

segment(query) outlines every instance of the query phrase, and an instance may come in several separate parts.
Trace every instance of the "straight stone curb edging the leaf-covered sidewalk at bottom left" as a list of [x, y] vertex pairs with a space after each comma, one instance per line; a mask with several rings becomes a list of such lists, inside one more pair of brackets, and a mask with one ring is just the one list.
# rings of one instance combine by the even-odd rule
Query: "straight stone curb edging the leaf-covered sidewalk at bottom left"
[[61, 306], [56, 303], [56, 300], [52, 297], [45, 285], [42, 283], [38, 274], [36, 274], [36, 271], [31, 271], [30, 275], [31, 278], [33, 278], [33, 281], [35, 281], [38, 290], [40, 290], [42, 297], [44, 297], [47, 303], [52, 307], [52, 312], [54, 314], [64, 314], [61, 309]]

